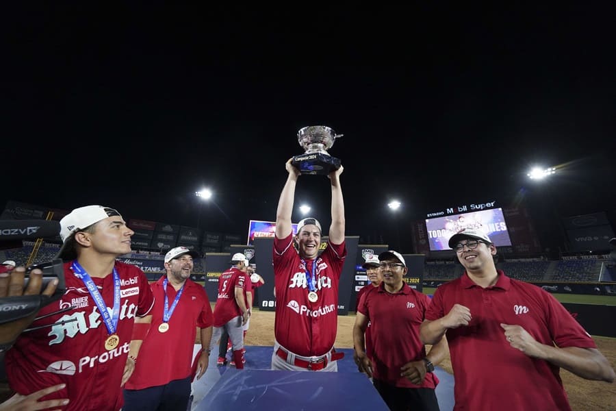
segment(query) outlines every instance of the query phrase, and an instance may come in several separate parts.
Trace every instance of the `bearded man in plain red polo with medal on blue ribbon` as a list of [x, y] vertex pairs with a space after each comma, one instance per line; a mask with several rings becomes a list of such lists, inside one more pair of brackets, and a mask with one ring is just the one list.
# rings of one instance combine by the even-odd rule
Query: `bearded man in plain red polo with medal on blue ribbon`
[[[185, 410], [191, 383], [207, 370], [212, 323], [209, 299], [203, 286], [190, 279], [194, 258], [187, 247], [172, 248], [165, 255], [166, 275], [151, 284], [156, 302], [152, 324], [140, 349], [140, 361], [125, 385], [123, 411]], [[201, 352], [192, 366], [196, 329]], [[162, 352], [173, 353], [161, 356]]]

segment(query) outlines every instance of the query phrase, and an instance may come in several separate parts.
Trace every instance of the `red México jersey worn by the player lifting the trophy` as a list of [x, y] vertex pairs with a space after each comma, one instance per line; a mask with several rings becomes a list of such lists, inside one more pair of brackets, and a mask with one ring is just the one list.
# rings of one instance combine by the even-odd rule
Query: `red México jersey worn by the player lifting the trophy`
[[[335, 342], [338, 325], [338, 284], [346, 245], [327, 243], [316, 260], [302, 262], [293, 236], [274, 237], [276, 318], [274, 334], [280, 345], [300, 356], [322, 356]], [[316, 264], [318, 300], [308, 300], [306, 271]]]

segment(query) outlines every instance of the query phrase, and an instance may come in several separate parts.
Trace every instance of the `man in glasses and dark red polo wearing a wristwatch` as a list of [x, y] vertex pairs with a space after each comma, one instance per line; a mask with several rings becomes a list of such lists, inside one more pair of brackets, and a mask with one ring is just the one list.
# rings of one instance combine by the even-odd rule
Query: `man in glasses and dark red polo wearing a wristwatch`
[[[359, 371], [372, 382], [390, 410], [439, 410], [435, 388], [439, 379], [434, 365], [447, 355], [441, 336], [426, 355], [420, 340], [430, 298], [402, 279], [405, 259], [397, 251], [379, 254], [381, 285], [365, 292], [353, 326], [354, 358]], [[364, 351], [364, 332], [370, 321], [372, 359]]]

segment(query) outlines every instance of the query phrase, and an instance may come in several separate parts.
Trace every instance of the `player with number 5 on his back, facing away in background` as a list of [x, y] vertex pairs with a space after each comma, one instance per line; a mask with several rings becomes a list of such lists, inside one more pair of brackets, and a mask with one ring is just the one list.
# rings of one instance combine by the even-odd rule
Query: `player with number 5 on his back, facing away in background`
[[250, 316], [245, 297], [246, 283], [250, 281], [246, 277], [246, 261], [244, 254], [233, 254], [233, 266], [218, 278], [214, 333], [210, 345], [210, 349], [216, 349], [224, 328], [233, 344], [233, 362], [237, 369], [244, 369], [244, 324]]

